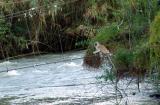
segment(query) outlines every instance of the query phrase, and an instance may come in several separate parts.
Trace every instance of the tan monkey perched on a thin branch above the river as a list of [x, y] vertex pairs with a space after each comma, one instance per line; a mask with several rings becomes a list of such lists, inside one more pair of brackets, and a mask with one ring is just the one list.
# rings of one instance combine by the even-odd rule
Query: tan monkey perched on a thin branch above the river
[[94, 47], [95, 47], [96, 51], [94, 51], [93, 54], [100, 53], [101, 55], [103, 55], [103, 54], [104, 55], [111, 55], [109, 50], [104, 45], [100, 44], [99, 42], [95, 42]]

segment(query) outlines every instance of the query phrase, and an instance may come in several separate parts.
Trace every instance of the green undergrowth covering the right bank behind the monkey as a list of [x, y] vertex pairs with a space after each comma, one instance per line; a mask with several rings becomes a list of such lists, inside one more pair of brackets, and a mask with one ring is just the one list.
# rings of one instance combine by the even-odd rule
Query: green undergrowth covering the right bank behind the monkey
[[[94, 42], [99, 41], [112, 53], [118, 78], [150, 75], [156, 84], [160, 79], [160, 6], [157, 0], [110, 0], [111, 11], [103, 18], [105, 24], [98, 28], [88, 47], [84, 63], [95, 66]], [[105, 3], [104, 3], [105, 4]], [[114, 5], [113, 5], [114, 4]], [[112, 17], [112, 18], [110, 18]], [[102, 20], [101, 20], [102, 21]], [[108, 75], [106, 74], [106, 77]], [[159, 86], [159, 85], [157, 85]]]

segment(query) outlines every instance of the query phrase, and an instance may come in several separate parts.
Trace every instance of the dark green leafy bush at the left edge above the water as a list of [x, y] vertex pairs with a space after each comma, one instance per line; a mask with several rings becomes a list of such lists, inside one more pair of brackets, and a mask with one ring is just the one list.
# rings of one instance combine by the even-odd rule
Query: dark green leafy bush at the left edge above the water
[[[4, 15], [1, 15], [4, 17]], [[15, 56], [21, 54], [26, 48], [27, 40], [22, 36], [22, 33], [16, 35], [12, 32], [12, 24], [4, 18], [0, 19], [0, 58]]]

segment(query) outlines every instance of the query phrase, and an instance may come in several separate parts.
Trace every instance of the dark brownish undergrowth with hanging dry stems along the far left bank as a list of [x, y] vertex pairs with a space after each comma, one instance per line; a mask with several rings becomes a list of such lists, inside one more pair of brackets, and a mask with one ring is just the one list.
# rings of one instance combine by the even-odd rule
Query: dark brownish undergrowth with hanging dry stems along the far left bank
[[90, 1], [2, 0], [0, 59], [86, 48], [95, 34], [94, 27], [88, 26]]

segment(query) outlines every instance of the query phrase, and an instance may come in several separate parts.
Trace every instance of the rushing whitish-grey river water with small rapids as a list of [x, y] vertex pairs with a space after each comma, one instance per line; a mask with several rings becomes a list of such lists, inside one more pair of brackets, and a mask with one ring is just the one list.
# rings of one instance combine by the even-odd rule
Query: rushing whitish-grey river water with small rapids
[[[114, 84], [97, 79], [103, 71], [87, 70], [82, 66], [84, 51], [32, 56], [0, 63], [0, 105], [114, 105]], [[69, 61], [50, 62], [69, 59]], [[31, 66], [14, 70], [14, 68]], [[124, 96], [121, 105], [159, 105], [149, 96], [152, 86], [128, 81], [119, 83]], [[136, 95], [133, 95], [136, 93]]]

